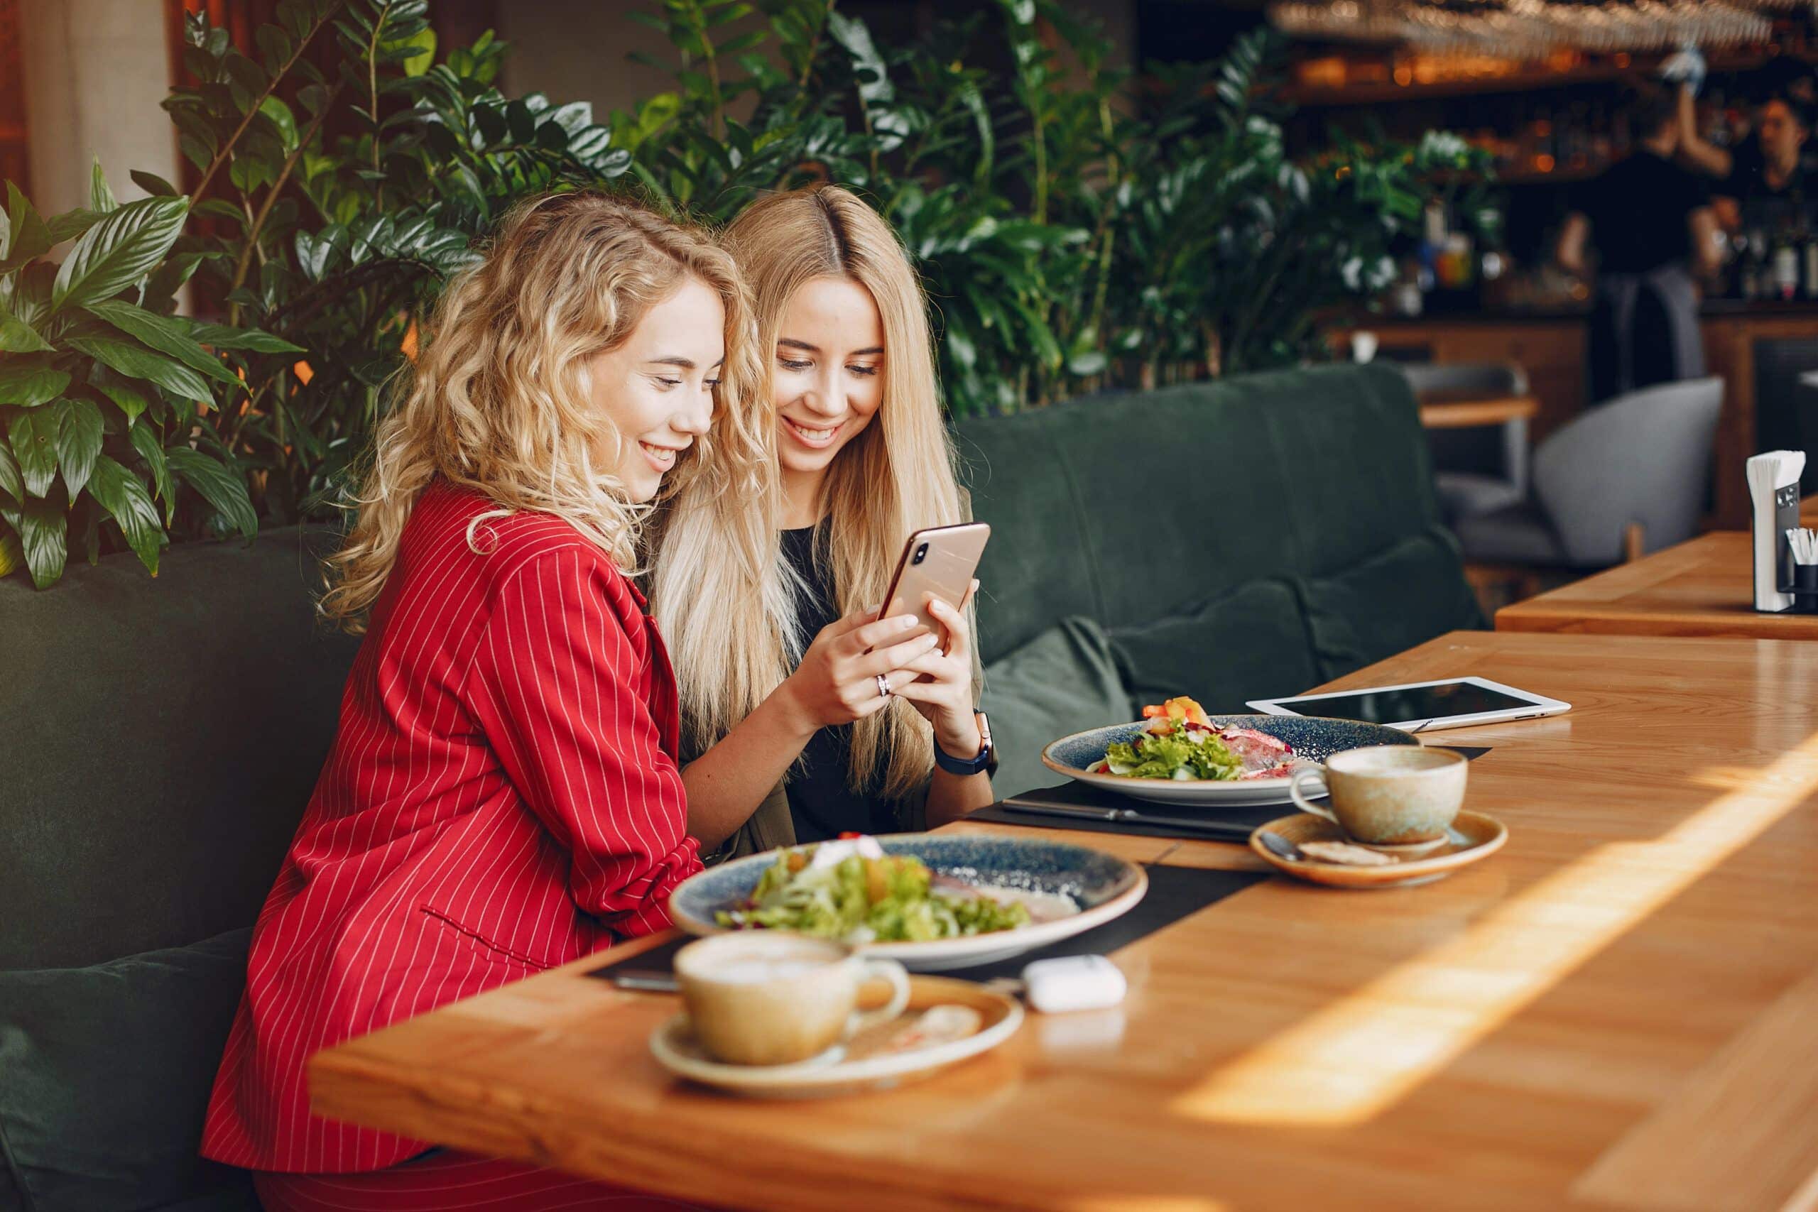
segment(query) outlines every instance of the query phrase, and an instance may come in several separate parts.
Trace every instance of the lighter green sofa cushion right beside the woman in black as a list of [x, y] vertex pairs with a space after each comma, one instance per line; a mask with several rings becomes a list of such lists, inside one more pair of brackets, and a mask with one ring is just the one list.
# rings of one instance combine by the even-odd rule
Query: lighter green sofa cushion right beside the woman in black
[[1131, 720], [1111, 643], [1089, 618], [1067, 618], [1005, 658], [985, 665], [980, 709], [991, 716], [1002, 800], [1062, 776], [1042, 765], [1049, 741]]

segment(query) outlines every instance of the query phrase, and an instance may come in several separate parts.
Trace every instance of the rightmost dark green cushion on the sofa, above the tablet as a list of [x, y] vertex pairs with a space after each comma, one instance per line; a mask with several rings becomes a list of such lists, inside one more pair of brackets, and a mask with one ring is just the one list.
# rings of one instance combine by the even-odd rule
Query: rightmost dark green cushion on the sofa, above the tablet
[[1340, 678], [1438, 634], [1483, 627], [1458, 545], [1440, 527], [1302, 589], [1320, 678]]

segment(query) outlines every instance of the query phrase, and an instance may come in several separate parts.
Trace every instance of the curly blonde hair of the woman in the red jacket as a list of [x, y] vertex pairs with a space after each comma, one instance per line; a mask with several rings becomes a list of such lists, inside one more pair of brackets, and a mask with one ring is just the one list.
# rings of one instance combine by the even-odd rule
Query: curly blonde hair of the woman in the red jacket
[[[322, 614], [364, 631], [411, 509], [436, 476], [491, 498], [498, 509], [482, 520], [554, 514], [634, 571], [649, 507], [633, 503], [611, 471], [629, 436], [593, 407], [587, 363], [624, 343], [685, 278], [725, 307], [725, 367], [713, 427], [664, 476], [664, 494], [744, 500], [762, 516], [774, 498], [776, 434], [767, 416], [745, 407], [767, 383], [733, 258], [705, 233], [624, 198], [545, 194], [514, 207], [480, 263], [436, 303], [429, 340], [400, 380], [353, 492], [358, 518], [331, 558]], [[604, 465], [602, 451], [614, 452]], [[471, 527], [467, 541], [474, 545]], [[722, 532], [718, 556], [756, 569], [774, 543], [765, 525], [734, 525]]]

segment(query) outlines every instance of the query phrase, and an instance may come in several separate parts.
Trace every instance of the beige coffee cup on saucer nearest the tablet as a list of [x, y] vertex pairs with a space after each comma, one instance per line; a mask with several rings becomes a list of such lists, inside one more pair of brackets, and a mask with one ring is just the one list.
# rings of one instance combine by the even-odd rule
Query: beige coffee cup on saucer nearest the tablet
[[[1453, 749], [1371, 745], [1294, 767], [1287, 792], [1302, 812], [1334, 821], [1353, 841], [1434, 849], [1465, 801], [1469, 767]], [[1325, 783], [1331, 807], [1302, 792], [1314, 780]]]

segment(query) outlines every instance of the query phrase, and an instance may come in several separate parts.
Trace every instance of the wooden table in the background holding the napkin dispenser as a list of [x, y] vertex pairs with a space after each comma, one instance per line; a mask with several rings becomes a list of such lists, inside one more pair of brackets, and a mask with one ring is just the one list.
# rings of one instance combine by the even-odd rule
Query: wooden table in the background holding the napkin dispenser
[[1818, 614], [1754, 609], [1743, 531], [1714, 531], [1496, 611], [1496, 631], [1818, 640]]

